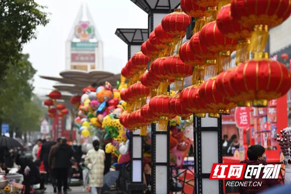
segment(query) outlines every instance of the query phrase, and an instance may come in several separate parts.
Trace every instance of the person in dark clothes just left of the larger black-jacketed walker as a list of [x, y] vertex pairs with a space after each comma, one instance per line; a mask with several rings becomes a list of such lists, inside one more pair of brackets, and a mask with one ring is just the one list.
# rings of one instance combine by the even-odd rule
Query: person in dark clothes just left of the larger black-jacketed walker
[[47, 172], [46, 174], [46, 184], [49, 183], [49, 151], [51, 146], [54, 146], [56, 142], [51, 141], [51, 137], [48, 135], [46, 137], [46, 143], [44, 143], [41, 147], [41, 152], [40, 152], [40, 160], [44, 162], [45, 165], [45, 171]]

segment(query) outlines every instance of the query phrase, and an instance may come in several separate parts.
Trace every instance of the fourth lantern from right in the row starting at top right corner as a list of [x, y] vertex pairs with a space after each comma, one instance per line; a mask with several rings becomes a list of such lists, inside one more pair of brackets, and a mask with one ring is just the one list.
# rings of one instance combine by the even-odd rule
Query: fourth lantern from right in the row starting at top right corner
[[[200, 32], [194, 33], [190, 39], [189, 47], [191, 52], [204, 60], [204, 65], [197, 67], [197, 74], [193, 79], [204, 80], [204, 75], [212, 77], [215, 75], [216, 53], [201, 44], [199, 39]], [[189, 52], [189, 51], [188, 51]], [[187, 53], [188, 53], [187, 52]], [[201, 75], [202, 74], [202, 75]], [[200, 75], [200, 77], [199, 77]]]

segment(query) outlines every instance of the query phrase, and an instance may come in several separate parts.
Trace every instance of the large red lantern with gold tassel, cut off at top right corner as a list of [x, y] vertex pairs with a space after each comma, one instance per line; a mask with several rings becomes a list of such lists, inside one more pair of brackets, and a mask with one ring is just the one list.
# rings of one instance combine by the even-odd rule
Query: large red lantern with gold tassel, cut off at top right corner
[[231, 16], [252, 29], [250, 50], [262, 58], [268, 29], [280, 25], [291, 14], [290, 0], [232, 0]]

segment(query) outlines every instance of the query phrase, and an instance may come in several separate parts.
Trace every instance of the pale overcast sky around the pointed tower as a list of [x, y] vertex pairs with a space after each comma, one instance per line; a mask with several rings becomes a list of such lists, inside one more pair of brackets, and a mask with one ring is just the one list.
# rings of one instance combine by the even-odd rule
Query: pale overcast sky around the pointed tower
[[[36, 0], [48, 8], [50, 22], [37, 28], [37, 39], [24, 46], [30, 54], [34, 76], [34, 93], [44, 96], [54, 81], [39, 75], [59, 77], [65, 70], [65, 41], [81, 4], [88, 5], [96, 29], [103, 41], [104, 70], [120, 73], [127, 62], [127, 45], [114, 33], [116, 28], [147, 28], [147, 14], [130, 0]], [[110, 66], [109, 66], [110, 65]], [[48, 89], [43, 89], [48, 88]]]

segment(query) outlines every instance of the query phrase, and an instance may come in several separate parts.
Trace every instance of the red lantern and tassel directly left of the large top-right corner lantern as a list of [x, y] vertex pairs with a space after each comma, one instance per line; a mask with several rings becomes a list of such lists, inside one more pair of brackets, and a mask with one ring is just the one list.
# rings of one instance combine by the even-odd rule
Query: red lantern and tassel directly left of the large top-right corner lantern
[[243, 27], [231, 16], [230, 4], [224, 6], [218, 13], [216, 20], [217, 28], [227, 37], [237, 40], [236, 65], [249, 60], [248, 47], [251, 43], [250, 28]]

